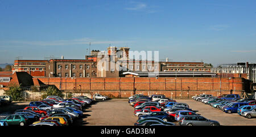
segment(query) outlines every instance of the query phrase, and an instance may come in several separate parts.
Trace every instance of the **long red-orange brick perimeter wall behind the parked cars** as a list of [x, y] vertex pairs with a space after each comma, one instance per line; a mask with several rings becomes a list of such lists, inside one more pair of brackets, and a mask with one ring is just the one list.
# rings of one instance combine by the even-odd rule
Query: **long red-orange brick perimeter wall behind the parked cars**
[[[189, 97], [200, 93], [220, 95], [230, 93], [241, 93], [245, 89], [245, 79], [243, 78], [38, 78], [44, 84], [54, 84], [64, 91], [74, 92], [100, 92], [104, 95], [116, 97], [129, 97], [133, 94], [134, 87], [136, 93], [144, 95], [164, 94], [172, 98], [187, 98], [188, 87]], [[220, 88], [221, 81], [221, 88]], [[81, 86], [80, 86], [81, 85]], [[236, 87], [236, 89], [234, 89]]]

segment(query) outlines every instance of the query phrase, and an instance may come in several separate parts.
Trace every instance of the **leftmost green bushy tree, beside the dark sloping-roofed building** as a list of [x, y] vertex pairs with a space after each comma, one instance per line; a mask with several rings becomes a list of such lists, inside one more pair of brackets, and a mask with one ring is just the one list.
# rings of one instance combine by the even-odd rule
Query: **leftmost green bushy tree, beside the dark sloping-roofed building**
[[22, 88], [20, 88], [20, 86], [17, 86], [17, 85], [11, 85], [9, 87], [9, 90], [5, 91], [5, 94], [13, 97], [14, 101], [23, 100]]

